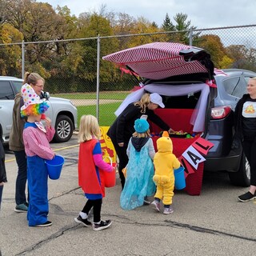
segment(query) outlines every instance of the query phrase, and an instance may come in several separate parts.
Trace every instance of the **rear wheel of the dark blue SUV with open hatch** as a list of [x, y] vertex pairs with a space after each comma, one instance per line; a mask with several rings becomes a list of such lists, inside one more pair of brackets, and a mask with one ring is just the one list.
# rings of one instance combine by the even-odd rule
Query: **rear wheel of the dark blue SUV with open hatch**
[[230, 182], [234, 186], [250, 186], [250, 166], [245, 154], [242, 153], [240, 166], [237, 172], [229, 172]]

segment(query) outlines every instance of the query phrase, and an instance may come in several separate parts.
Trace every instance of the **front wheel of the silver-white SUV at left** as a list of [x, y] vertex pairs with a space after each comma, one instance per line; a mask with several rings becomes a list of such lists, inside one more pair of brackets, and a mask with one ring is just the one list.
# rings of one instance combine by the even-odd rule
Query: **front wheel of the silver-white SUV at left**
[[66, 115], [58, 116], [55, 124], [54, 142], [67, 142], [72, 137], [74, 125]]

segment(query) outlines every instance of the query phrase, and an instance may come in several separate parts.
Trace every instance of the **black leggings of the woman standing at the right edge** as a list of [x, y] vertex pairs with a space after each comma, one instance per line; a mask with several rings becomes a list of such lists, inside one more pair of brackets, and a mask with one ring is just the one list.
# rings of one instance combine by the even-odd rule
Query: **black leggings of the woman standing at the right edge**
[[242, 142], [242, 149], [250, 164], [250, 185], [256, 186], [256, 139], [254, 141], [244, 140]]

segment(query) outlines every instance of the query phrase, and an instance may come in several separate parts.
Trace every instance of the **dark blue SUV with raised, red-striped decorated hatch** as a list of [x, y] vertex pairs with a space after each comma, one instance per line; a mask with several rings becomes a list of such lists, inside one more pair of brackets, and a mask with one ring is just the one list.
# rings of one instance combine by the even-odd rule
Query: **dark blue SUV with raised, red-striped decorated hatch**
[[[187, 114], [197, 108], [198, 115], [201, 111], [201, 119], [198, 116], [196, 118], [203, 126], [197, 131], [201, 130], [200, 136], [214, 144], [205, 157], [204, 170], [226, 170], [231, 183], [250, 186], [250, 166], [242, 152], [242, 145], [234, 148], [232, 142], [234, 108], [242, 94], [246, 94], [248, 80], [256, 77], [256, 73], [230, 69], [218, 70], [220, 74], [215, 70], [216, 74], [212, 74], [214, 68], [205, 50], [175, 43], [150, 43], [107, 55], [103, 59], [115, 62], [122, 68], [126, 66], [128, 70], [141, 75], [143, 80], [140, 90], [162, 95], [166, 108], [156, 111], [158, 115], [164, 113], [162, 118], [170, 127], [174, 122], [184, 122], [186, 119], [182, 114], [170, 114], [174, 110], [186, 109]], [[212, 81], [215, 81], [216, 87]], [[204, 89], [198, 89], [202, 87], [208, 90], [207, 86], [207, 94], [203, 94]], [[138, 93], [135, 91], [128, 95], [122, 104], [125, 106], [136, 99], [136, 94], [140, 94], [139, 90]], [[154, 131], [156, 127], [153, 125], [150, 129]]]

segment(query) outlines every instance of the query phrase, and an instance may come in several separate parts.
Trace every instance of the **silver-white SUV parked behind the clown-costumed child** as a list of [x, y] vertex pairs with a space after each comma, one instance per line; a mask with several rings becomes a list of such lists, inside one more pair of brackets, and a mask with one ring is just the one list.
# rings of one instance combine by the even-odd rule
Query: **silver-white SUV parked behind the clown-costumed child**
[[[14, 97], [21, 90], [22, 82], [19, 78], [0, 76], [0, 138], [4, 144], [9, 142]], [[44, 97], [47, 98], [47, 94]], [[78, 126], [77, 108], [65, 98], [50, 97], [47, 100], [50, 108], [46, 111], [46, 116], [51, 119], [56, 130], [54, 141], [69, 141]]]

